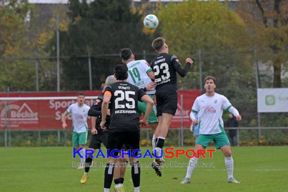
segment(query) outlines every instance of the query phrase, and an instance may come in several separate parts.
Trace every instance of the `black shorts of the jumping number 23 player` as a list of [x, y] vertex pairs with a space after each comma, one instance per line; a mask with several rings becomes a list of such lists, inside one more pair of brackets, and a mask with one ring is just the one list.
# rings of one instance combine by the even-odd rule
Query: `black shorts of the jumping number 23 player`
[[162, 116], [162, 113], [175, 115], [178, 105], [178, 92], [156, 91], [156, 101], [157, 117]]

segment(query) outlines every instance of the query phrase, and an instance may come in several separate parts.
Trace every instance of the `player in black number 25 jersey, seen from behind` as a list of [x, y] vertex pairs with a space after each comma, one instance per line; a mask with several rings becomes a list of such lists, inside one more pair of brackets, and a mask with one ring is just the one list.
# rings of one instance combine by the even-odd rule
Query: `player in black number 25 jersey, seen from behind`
[[[149, 116], [153, 109], [153, 100], [138, 87], [126, 82], [128, 78], [128, 68], [126, 65], [119, 64], [114, 68], [117, 82], [108, 86], [104, 92], [102, 103], [102, 122], [101, 128], [106, 129], [106, 115], [111, 102], [111, 121], [108, 136], [108, 149], [121, 150], [125, 144], [127, 150], [139, 150], [140, 128], [139, 125], [147, 125]], [[137, 112], [137, 102], [142, 101], [147, 103], [146, 113], [141, 122]], [[133, 153], [132, 153], [133, 154]], [[116, 159], [112, 155], [117, 156], [118, 152], [110, 155], [108, 164], [105, 169], [104, 191], [109, 191], [113, 179], [114, 163]], [[138, 159], [131, 156], [131, 175], [134, 185], [134, 191], [139, 191], [140, 186], [140, 167]]]

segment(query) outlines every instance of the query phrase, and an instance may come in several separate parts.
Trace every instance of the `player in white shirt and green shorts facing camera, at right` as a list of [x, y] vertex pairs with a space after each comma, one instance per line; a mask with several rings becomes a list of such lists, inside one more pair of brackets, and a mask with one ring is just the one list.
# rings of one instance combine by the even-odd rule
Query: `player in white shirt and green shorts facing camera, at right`
[[[227, 168], [229, 183], [240, 183], [233, 177], [233, 159], [230, 148], [230, 142], [224, 131], [222, 120], [223, 110], [232, 113], [237, 121], [242, 119], [239, 112], [230, 104], [228, 99], [221, 94], [215, 92], [216, 78], [207, 76], [204, 80], [206, 93], [198, 97], [192, 107], [190, 118], [194, 125], [199, 124], [199, 137], [196, 141], [195, 150], [202, 150], [208, 147], [213, 140], [216, 149], [220, 149], [225, 156], [225, 166]], [[195, 118], [198, 114], [199, 119]], [[181, 184], [190, 183], [191, 174], [194, 171], [195, 165], [199, 158], [191, 158], [188, 163], [187, 173]]]

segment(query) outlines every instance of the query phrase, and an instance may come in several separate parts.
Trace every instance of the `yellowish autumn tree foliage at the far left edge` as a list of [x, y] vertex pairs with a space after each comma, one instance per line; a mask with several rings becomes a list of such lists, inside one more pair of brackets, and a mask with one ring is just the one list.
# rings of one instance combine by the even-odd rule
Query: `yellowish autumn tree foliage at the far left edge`
[[29, 56], [25, 18], [31, 6], [27, 0], [3, 0], [0, 4], [0, 90], [33, 90], [35, 70], [29, 61], [4, 59]]

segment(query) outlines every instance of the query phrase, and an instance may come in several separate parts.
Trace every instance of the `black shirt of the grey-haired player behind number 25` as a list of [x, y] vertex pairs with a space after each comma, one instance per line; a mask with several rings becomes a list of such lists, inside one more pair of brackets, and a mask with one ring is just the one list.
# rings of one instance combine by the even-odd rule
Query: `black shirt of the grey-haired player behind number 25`
[[[91, 106], [91, 108], [88, 111], [88, 115], [92, 116], [92, 117], [97, 117], [96, 119], [96, 129], [98, 131], [98, 134], [101, 133], [102, 131], [106, 131], [101, 129], [100, 127], [100, 123], [101, 123], [101, 118], [102, 118], [102, 112], [101, 112], [101, 107], [102, 107], [102, 103], [103, 103], [103, 96], [104, 94], [102, 93], [93, 103], [93, 105]], [[109, 108], [111, 109], [111, 104], [109, 104]], [[107, 129], [109, 129], [109, 125], [110, 125], [110, 115], [106, 116], [106, 123], [105, 123], [105, 127], [107, 127]]]

